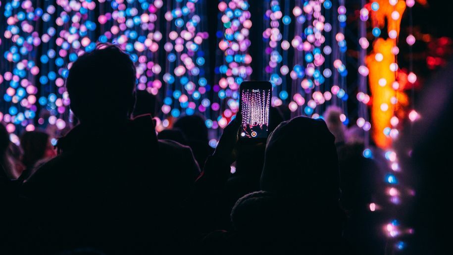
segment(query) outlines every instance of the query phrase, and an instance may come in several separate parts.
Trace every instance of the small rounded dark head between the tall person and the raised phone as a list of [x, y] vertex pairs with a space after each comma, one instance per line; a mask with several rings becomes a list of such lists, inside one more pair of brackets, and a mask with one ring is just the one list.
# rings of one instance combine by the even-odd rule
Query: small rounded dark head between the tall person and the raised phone
[[207, 141], [208, 139], [204, 118], [198, 114], [179, 118], [173, 127], [181, 130], [188, 140]]

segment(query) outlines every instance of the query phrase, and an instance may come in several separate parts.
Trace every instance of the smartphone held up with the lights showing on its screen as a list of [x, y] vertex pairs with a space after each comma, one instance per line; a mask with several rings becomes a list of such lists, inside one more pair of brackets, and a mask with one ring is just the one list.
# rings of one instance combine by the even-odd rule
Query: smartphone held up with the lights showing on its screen
[[272, 85], [267, 81], [242, 82], [239, 87], [242, 141], [265, 140], [269, 135], [269, 107]]

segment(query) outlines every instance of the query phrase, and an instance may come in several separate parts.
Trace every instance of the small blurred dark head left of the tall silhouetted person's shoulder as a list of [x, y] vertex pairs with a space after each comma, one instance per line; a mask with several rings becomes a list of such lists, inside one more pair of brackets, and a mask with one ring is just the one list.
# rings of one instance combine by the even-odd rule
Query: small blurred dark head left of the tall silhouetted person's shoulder
[[40, 131], [28, 131], [22, 134], [20, 146], [24, 152], [22, 163], [27, 168], [32, 168], [36, 162], [43, 158], [55, 155], [50, 144], [49, 135]]

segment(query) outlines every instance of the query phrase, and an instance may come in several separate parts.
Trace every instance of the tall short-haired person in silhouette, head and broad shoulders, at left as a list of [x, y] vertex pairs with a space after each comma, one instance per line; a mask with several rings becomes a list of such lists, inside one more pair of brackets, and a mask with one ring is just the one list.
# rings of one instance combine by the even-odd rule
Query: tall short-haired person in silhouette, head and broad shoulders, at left
[[157, 141], [151, 115], [130, 118], [135, 85], [134, 63], [115, 45], [99, 45], [70, 66], [66, 89], [80, 124], [22, 185], [36, 214], [27, 229], [31, 250], [174, 254], [184, 247], [181, 207], [199, 167], [188, 147]]

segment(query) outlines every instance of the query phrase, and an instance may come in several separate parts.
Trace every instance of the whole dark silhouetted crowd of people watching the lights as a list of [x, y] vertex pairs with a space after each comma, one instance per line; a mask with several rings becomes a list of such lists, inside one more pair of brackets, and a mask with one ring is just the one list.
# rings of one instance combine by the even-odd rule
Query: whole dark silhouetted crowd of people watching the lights
[[379, 166], [340, 109], [271, 108], [266, 144], [238, 140], [238, 113], [214, 150], [199, 115], [157, 134], [135, 87], [129, 55], [101, 45], [70, 67], [77, 124], [55, 148], [0, 125], [1, 254], [383, 254]]

